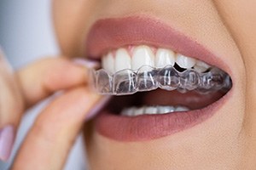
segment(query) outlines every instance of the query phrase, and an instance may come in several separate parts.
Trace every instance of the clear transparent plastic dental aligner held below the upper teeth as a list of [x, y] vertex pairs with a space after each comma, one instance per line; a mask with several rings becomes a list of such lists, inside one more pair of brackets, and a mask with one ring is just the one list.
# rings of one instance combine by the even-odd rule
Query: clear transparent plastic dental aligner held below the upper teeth
[[230, 76], [216, 67], [199, 73], [193, 69], [180, 72], [172, 65], [160, 69], [143, 65], [137, 71], [125, 69], [114, 74], [103, 69], [91, 70], [90, 79], [99, 94], [108, 95], [135, 94], [156, 88], [209, 94], [218, 90], [227, 92], [232, 87]]

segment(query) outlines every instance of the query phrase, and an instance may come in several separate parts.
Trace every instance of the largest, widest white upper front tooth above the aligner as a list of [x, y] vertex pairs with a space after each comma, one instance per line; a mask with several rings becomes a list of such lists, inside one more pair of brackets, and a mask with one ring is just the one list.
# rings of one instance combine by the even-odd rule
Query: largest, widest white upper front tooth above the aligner
[[[137, 70], [142, 65], [154, 67], [154, 54], [148, 46], [138, 46], [134, 49], [131, 59], [131, 69]], [[146, 68], [147, 69], [147, 68]], [[147, 70], [143, 70], [147, 71]]]

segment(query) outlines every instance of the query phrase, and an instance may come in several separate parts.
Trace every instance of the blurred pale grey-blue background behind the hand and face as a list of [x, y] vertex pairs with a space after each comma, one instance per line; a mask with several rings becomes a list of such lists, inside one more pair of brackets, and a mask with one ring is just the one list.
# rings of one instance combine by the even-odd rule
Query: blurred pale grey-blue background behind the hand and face
[[[0, 46], [15, 69], [44, 56], [59, 54], [51, 20], [51, 1], [1, 0]], [[9, 169], [22, 139], [47, 102], [46, 100], [27, 111], [18, 130], [12, 159], [7, 163], [0, 161], [0, 170]], [[83, 150], [83, 139], [79, 137], [65, 169], [85, 169]]]

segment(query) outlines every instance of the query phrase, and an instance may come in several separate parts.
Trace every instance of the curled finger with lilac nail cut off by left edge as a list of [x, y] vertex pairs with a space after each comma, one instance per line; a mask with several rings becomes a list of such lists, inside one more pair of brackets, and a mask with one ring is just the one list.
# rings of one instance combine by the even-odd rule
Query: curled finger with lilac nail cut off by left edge
[[24, 109], [15, 75], [0, 49], [0, 160], [7, 161]]

